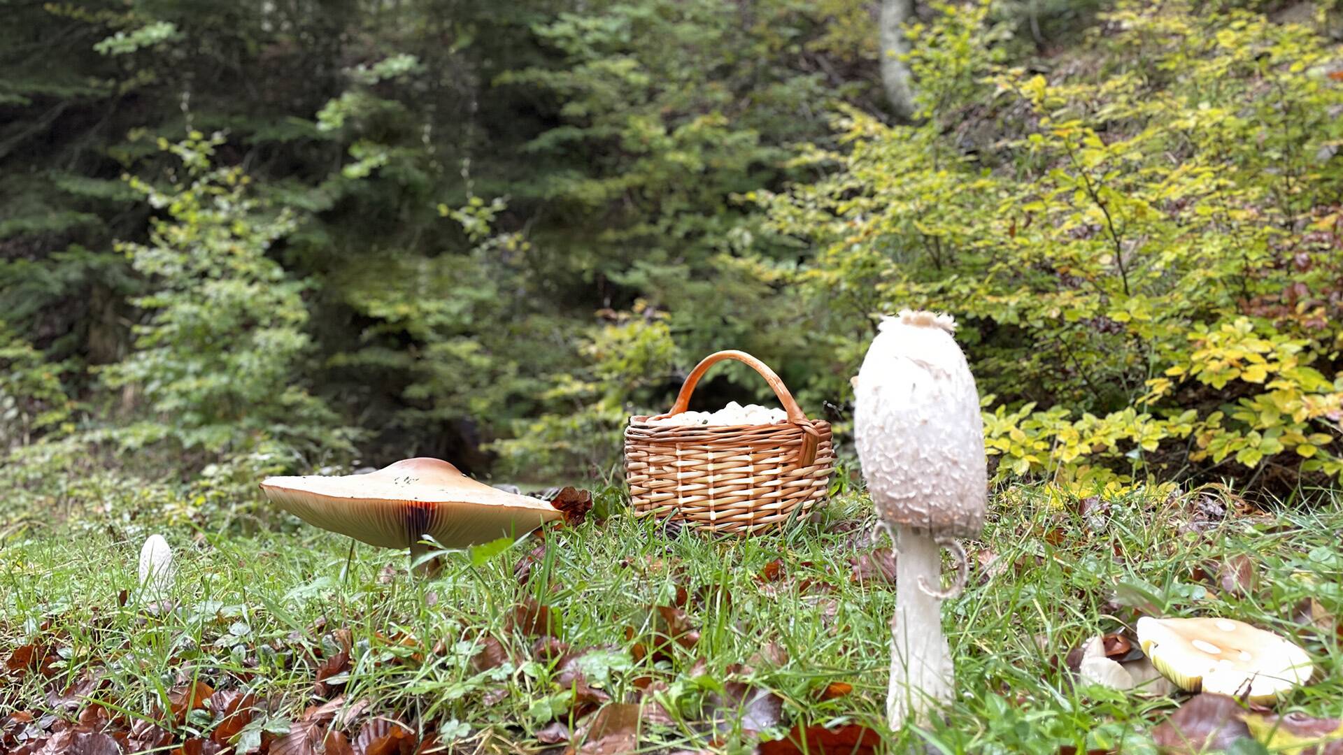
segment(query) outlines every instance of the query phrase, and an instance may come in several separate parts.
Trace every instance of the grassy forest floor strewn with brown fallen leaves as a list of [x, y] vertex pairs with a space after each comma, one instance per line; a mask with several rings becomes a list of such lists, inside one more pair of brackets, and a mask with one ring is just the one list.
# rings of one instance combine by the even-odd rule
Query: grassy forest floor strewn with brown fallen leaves
[[944, 606], [962, 696], [898, 736], [893, 562], [870, 502], [752, 539], [612, 508], [450, 553], [436, 579], [363, 545], [346, 574], [349, 540], [302, 525], [164, 528], [177, 574], [161, 601], [137, 594], [142, 536], [31, 531], [0, 551], [0, 751], [1146, 752], [1189, 695], [1088, 684], [1074, 650], [1131, 639], [1142, 614], [1288, 635], [1319, 668], [1279, 712], [1343, 712], [1338, 497], [1262, 512], [1211, 492], [997, 494]]

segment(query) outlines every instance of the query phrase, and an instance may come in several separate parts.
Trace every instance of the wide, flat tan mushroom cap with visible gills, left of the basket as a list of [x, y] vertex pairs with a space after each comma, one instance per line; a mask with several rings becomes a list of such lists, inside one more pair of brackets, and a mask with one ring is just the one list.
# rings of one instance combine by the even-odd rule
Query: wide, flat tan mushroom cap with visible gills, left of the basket
[[313, 527], [385, 548], [408, 548], [426, 536], [465, 548], [522, 536], [561, 516], [540, 498], [490, 488], [436, 458], [368, 474], [267, 477], [261, 489]]

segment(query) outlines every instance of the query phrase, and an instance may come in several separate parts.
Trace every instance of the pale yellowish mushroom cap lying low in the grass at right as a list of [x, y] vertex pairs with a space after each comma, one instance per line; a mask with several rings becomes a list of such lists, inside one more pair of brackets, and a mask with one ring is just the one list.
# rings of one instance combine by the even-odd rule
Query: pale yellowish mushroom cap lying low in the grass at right
[[1225, 618], [1138, 619], [1138, 642], [1180, 689], [1270, 703], [1309, 681], [1315, 668], [1292, 642]]

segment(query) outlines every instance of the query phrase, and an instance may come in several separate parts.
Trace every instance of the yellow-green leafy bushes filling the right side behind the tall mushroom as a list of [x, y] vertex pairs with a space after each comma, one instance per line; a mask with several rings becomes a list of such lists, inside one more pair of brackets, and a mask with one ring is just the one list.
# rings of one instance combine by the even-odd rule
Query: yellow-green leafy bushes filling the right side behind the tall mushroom
[[[1001, 63], [986, 9], [916, 30], [928, 122], [850, 112], [825, 156], [843, 168], [767, 197], [776, 232], [821, 245], [800, 279], [834, 302], [827, 329], [960, 316], [999, 478], [1343, 478], [1339, 50], [1129, 4], [1046, 78]], [[959, 152], [948, 130], [974, 118], [1009, 138]]]

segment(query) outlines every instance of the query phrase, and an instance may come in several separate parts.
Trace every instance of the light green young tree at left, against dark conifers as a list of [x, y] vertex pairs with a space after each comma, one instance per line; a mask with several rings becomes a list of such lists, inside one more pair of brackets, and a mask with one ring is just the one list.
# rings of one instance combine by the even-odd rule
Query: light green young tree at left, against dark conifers
[[294, 228], [248, 195], [240, 168], [212, 165], [224, 140], [191, 133], [163, 142], [181, 160], [171, 188], [130, 185], [152, 207], [148, 243], [118, 245], [152, 293], [136, 351], [102, 368], [109, 388], [129, 391], [146, 415], [117, 433], [128, 447], [164, 439], [183, 449], [244, 450], [274, 437], [305, 451], [349, 450], [349, 434], [295, 378], [310, 339], [301, 281], [267, 251]]

